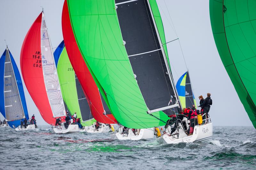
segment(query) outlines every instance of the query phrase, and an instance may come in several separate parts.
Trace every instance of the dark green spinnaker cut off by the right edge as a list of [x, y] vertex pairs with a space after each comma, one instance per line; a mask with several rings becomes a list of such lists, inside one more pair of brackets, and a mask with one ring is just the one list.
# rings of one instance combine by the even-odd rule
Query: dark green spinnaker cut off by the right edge
[[220, 58], [256, 128], [256, 0], [210, 0]]

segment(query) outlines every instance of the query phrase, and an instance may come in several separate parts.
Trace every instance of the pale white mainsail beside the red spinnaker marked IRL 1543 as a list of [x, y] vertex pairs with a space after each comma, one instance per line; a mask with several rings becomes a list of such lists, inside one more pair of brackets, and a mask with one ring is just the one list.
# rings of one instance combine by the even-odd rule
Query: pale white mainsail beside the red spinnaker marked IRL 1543
[[57, 75], [56, 66], [54, 63], [52, 46], [48, 36], [48, 30], [45, 23], [44, 13], [42, 15], [41, 23], [41, 54], [44, 84], [48, 100], [52, 108], [52, 115], [53, 117], [65, 116], [66, 111], [62, 99], [62, 94], [60, 91], [59, 79]]

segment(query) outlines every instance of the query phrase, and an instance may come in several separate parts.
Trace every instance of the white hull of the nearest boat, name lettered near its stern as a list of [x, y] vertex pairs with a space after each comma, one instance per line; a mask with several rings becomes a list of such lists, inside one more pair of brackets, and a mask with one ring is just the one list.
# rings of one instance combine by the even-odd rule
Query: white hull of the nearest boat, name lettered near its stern
[[[204, 125], [196, 125], [194, 127], [193, 135], [187, 136], [184, 132], [180, 133], [179, 137], [169, 136], [169, 134], [164, 134], [161, 137], [158, 137], [156, 141], [159, 144], [177, 144], [180, 142], [189, 143], [197, 141], [209, 141], [212, 139], [212, 122]], [[181, 130], [180, 130], [181, 132]], [[177, 139], [178, 138], [178, 139]]]

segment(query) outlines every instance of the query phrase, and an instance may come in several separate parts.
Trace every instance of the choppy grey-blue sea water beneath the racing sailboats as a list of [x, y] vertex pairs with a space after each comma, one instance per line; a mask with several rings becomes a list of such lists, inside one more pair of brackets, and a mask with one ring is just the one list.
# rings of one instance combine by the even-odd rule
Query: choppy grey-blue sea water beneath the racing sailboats
[[256, 169], [253, 127], [214, 127], [209, 143], [162, 144], [156, 138], [110, 140], [108, 133], [58, 135], [0, 129], [0, 169]]

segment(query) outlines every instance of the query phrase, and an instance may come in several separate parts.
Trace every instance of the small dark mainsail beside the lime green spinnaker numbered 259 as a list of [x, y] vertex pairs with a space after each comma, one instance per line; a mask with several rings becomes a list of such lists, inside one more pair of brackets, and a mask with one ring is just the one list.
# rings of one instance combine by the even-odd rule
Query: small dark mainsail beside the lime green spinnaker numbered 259
[[[76, 76], [76, 75], [75, 75]], [[78, 103], [81, 111], [81, 116], [83, 121], [87, 121], [93, 118], [91, 109], [88, 105], [86, 96], [84, 94], [82, 85], [80, 84], [78, 78], [76, 77], [76, 91], [77, 91], [77, 97], [78, 97]]]

